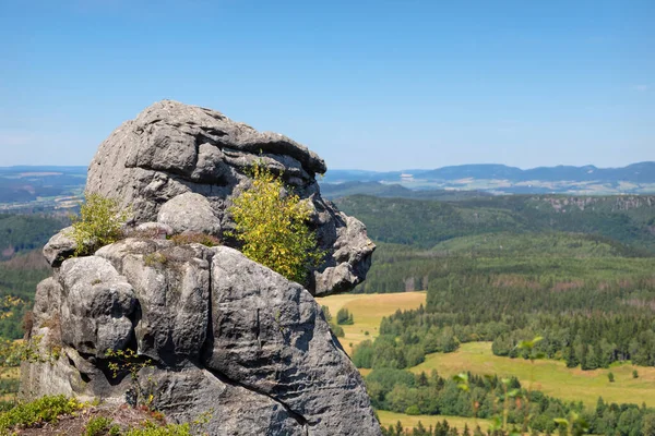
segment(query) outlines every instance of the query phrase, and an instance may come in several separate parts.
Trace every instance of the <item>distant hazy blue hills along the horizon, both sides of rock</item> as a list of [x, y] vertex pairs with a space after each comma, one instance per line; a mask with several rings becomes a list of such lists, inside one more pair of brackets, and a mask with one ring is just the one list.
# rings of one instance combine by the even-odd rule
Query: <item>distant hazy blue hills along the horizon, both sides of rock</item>
[[[86, 167], [0, 167], [0, 209], [68, 208], [84, 190]], [[491, 194], [652, 194], [655, 161], [622, 168], [462, 165], [402, 171], [329, 170], [320, 181], [326, 197], [368, 194], [385, 197], [461, 199]]]

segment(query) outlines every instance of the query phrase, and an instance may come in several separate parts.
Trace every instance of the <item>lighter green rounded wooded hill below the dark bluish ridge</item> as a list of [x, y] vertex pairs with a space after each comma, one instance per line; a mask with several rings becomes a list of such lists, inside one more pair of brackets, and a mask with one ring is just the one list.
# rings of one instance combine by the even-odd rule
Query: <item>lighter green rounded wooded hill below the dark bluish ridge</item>
[[631, 278], [655, 264], [650, 252], [588, 234], [493, 233], [456, 238], [432, 250], [378, 245], [367, 279], [355, 293], [427, 290], [434, 278], [468, 272], [529, 275], [532, 281], [593, 278], [597, 272], [608, 279]]

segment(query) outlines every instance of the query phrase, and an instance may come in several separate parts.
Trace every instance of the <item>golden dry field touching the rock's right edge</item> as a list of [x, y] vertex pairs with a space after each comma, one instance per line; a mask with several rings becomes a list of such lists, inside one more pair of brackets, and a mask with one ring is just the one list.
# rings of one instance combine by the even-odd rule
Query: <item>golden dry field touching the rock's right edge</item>
[[[319, 304], [330, 307], [330, 313], [336, 318], [340, 308], [345, 307], [353, 314], [355, 324], [342, 326], [344, 338], [338, 338], [344, 350], [350, 354], [353, 346], [366, 339], [378, 336], [382, 317], [402, 311], [418, 308], [426, 304], [426, 292], [402, 292], [381, 294], [342, 294], [317, 299]], [[368, 331], [368, 335], [366, 332]]]

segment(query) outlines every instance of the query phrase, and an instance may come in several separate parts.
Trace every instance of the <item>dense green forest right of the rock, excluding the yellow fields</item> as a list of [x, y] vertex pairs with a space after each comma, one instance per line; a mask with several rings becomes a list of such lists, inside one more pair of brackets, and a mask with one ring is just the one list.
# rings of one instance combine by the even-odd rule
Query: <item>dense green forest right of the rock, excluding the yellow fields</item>
[[[490, 417], [498, 416], [498, 401], [509, 390], [524, 401], [509, 402], [509, 422], [519, 428], [529, 416], [532, 431], [555, 433], [553, 419], [574, 411], [592, 434], [655, 429], [655, 411], [643, 405], [599, 399], [596, 410], [586, 410], [529, 392], [515, 378], [507, 386], [497, 377], [468, 374], [471, 390], [462, 390], [455, 380], [406, 371], [429, 353], [452, 352], [469, 341], [491, 341], [497, 355], [538, 355], [582, 370], [617, 361], [654, 366], [654, 197], [336, 202], [362, 219], [379, 245], [356, 292], [427, 291], [425, 306], [383, 318], [380, 335], [354, 350], [354, 363], [372, 368], [367, 386], [376, 407]], [[534, 349], [520, 346], [535, 337], [541, 339]], [[403, 434], [400, 426], [384, 432]], [[414, 434], [456, 432], [445, 424]], [[486, 433], [466, 428], [464, 434]]]

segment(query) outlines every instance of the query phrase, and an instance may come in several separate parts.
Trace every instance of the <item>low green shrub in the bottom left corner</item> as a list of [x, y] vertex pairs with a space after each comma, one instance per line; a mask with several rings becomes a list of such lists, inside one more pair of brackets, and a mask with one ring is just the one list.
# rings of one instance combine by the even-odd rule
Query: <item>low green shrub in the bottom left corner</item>
[[74, 398], [64, 396], [43, 397], [37, 400], [17, 404], [15, 408], [0, 413], [0, 435], [16, 425], [31, 427], [45, 422], [57, 422], [58, 416], [73, 413], [83, 408]]

